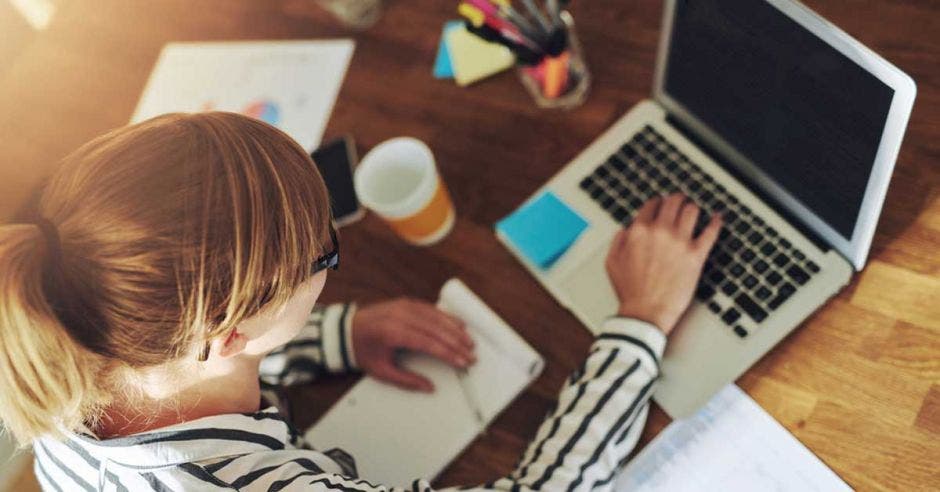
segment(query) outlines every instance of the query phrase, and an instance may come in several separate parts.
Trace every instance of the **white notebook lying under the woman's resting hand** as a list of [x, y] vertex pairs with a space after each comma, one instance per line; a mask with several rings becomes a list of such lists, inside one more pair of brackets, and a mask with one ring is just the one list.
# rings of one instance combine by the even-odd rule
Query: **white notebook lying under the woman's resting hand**
[[460, 280], [441, 288], [438, 308], [462, 319], [476, 343], [466, 372], [409, 354], [402, 363], [434, 383], [405, 391], [364, 377], [305, 434], [315, 449], [340, 448], [359, 476], [384, 485], [433, 480], [529, 383], [545, 363], [538, 352]]

